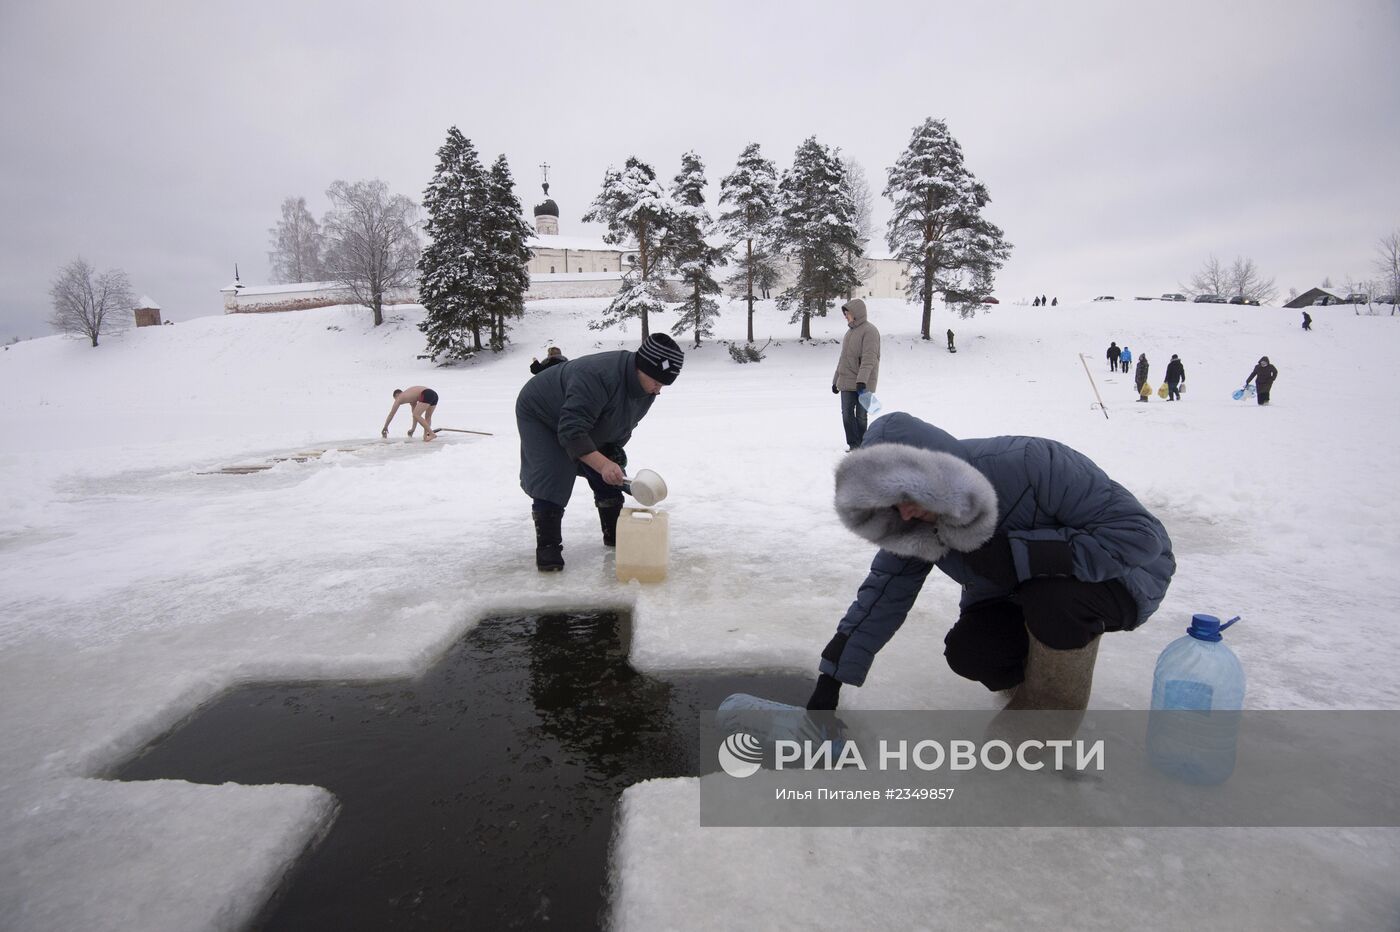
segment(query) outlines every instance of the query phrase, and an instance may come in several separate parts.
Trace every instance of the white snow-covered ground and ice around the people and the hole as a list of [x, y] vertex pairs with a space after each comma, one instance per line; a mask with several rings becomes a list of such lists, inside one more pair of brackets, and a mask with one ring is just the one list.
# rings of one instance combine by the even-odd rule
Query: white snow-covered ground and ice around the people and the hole
[[[532, 304], [507, 353], [455, 368], [416, 358], [416, 306], [378, 329], [328, 308], [0, 353], [0, 926], [256, 914], [332, 820], [325, 791], [101, 779], [230, 684], [410, 675], [484, 616], [599, 606], [634, 613], [644, 670], [815, 676], [874, 556], [830, 505], [840, 316], [804, 344], [764, 304], [762, 364], [717, 343], [687, 353], [627, 451], [630, 472], [669, 484], [671, 578], [623, 586], [582, 484], [568, 567], [538, 574], [517, 484], [529, 358], [550, 341], [570, 357], [636, 346], [636, 329], [587, 329], [603, 304]], [[1141, 630], [1105, 638], [1096, 708], [1147, 708], [1155, 658], [1193, 612], [1243, 616], [1231, 645], [1249, 708], [1400, 708], [1400, 437], [1383, 413], [1400, 318], [1313, 318], [1305, 333], [1278, 308], [1002, 305], [935, 313], [921, 343], [916, 308], [872, 302], [886, 411], [1068, 442], [1170, 532], [1172, 589]], [[718, 329], [742, 337], [742, 308]], [[1180, 354], [1183, 400], [1134, 403], [1131, 376], [1107, 372], [1110, 340], [1148, 354], [1154, 385]], [[1232, 400], [1264, 354], [1273, 404]], [[400, 411], [381, 441], [391, 390], [416, 383], [441, 395], [437, 425], [494, 437], [406, 442]], [[956, 603], [931, 575], [843, 705], [991, 708], [944, 665]], [[1394, 830], [717, 830], [699, 827], [697, 799], [693, 779], [624, 795], [619, 928], [1400, 926]]]

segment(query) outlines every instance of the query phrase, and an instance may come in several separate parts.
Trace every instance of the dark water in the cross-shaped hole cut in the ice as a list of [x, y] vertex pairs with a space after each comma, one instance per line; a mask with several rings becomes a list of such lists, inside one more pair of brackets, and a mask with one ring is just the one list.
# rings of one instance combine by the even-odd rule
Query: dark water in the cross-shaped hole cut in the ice
[[113, 777], [336, 795], [330, 833], [259, 928], [594, 928], [622, 791], [715, 770], [700, 709], [739, 691], [802, 702], [811, 686], [644, 676], [624, 624], [489, 619], [420, 679], [231, 690]]

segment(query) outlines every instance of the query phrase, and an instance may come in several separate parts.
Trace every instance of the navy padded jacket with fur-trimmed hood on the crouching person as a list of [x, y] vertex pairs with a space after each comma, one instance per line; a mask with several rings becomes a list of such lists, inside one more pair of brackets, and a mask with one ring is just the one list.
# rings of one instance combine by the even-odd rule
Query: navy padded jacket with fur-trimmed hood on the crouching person
[[[900, 519], [895, 507], [906, 500], [938, 522]], [[822, 652], [822, 673], [853, 686], [865, 682], [935, 565], [962, 584], [963, 609], [1011, 595], [963, 558], [993, 533], [1011, 542], [1019, 581], [1037, 575], [1037, 550], [1065, 547], [1077, 579], [1120, 581], [1138, 607], [1131, 627], [1156, 612], [1176, 572], [1162, 522], [1088, 456], [1039, 437], [960, 441], [910, 414], [889, 414], [837, 467], [836, 512], [881, 546]]]

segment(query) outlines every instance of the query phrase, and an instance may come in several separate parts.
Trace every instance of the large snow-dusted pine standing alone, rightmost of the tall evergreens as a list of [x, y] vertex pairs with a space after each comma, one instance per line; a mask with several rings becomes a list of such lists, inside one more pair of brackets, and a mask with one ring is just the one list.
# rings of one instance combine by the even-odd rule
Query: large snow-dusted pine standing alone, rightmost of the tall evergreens
[[963, 165], [962, 147], [942, 120], [930, 118], [914, 129], [889, 169], [885, 196], [895, 203], [886, 242], [909, 266], [907, 294], [923, 304], [920, 336], [927, 340], [934, 294], [970, 316], [991, 291], [1011, 243], [981, 216], [991, 197]]

